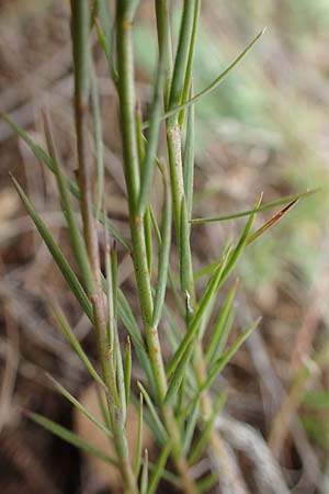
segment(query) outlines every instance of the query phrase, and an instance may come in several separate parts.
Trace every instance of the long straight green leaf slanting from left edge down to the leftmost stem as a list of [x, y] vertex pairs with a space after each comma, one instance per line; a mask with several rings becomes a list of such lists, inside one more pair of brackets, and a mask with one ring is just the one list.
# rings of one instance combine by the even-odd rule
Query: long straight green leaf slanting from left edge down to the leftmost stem
[[13, 183], [16, 188], [16, 191], [27, 211], [30, 214], [32, 221], [34, 222], [36, 228], [38, 229], [41, 236], [43, 237], [46, 246], [48, 247], [49, 252], [52, 254], [54, 260], [56, 261], [58, 268], [60, 269], [64, 278], [68, 282], [72, 293], [75, 294], [76, 299], [80, 303], [83, 312], [88, 315], [89, 319], [93, 323], [93, 314], [91, 308], [91, 303], [81, 287], [78, 278], [76, 277], [73, 270], [71, 269], [70, 265], [66, 260], [64, 254], [61, 252], [58, 245], [55, 243], [50, 232], [35, 211], [34, 206], [32, 205], [30, 199], [24, 193], [23, 189], [19, 184], [19, 182], [12, 177]]

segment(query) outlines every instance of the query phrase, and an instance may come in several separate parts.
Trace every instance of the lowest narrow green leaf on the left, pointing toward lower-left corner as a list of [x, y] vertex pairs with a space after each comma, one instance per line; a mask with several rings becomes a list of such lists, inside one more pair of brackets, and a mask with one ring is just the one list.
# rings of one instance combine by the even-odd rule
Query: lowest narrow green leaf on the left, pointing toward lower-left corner
[[56, 424], [56, 422], [49, 420], [49, 418], [46, 418], [43, 415], [35, 414], [33, 412], [25, 412], [25, 413], [26, 413], [27, 417], [31, 418], [33, 422], [41, 425], [46, 430], [48, 430], [49, 433], [59, 437], [60, 439], [65, 440], [66, 442], [69, 442], [70, 445], [76, 446], [76, 448], [82, 449], [83, 451], [88, 452], [89, 454], [92, 454], [93, 457], [97, 457], [100, 460], [105, 461], [106, 463], [111, 463], [114, 467], [117, 467], [117, 462], [113, 458], [109, 457], [101, 449], [95, 448], [94, 446], [84, 441], [83, 439], [81, 439], [79, 436], [77, 436], [71, 430], [60, 426], [59, 424]]

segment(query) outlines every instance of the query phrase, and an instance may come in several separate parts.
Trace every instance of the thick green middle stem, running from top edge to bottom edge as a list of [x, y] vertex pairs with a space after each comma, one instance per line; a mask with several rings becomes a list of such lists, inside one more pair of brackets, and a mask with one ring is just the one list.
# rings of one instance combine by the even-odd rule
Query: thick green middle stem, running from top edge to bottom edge
[[[139, 162], [136, 141], [134, 58], [133, 58], [134, 9], [129, 1], [116, 1], [116, 49], [118, 72], [118, 99], [123, 138], [123, 157], [128, 193], [129, 225], [133, 245], [133, 261], [140, 312], [151, 368], [156, 381], [158, 402], [161, 404], [167, 392], [167, 378], [159, 343], [158, 328], [152, 325], [154, 301], [149, 279], [145, 229], [138, 214]], [[167, 430], [171, 437], [172, 456], [181, 476], [182, 487], [188, 494], [196, 494], [194, 482], [189, 476], [186, 459], [182, 457], [181, 437], [171, 407], [161, 406]]]

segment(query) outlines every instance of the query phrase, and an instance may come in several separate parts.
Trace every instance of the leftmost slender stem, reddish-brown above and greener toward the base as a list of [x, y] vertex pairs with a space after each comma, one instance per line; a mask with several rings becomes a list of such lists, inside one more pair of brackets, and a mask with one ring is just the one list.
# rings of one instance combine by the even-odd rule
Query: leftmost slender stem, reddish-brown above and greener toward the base
[[88, 256], [93, 274], [91, 302], [94, 311], [98, 351], [100, 356], [103, 380], [107, 386], [107, 408], [111, 417], [111, 425], [113, 430], [115, 450], [118, 458], [120, 470], [124, 480], [125, 487], [127, 489], [129, 494], [138, 494], [136, 478], [129, 462], [124, 420], [117, 398], [116, 375], [113, 366], [113, 349], [109, 348], [107, 346], [106, 313], [102, 291], [97, 220], [93, 215], [92, 171], [90, 149], [88, 145], [88, 103], [90, 94], [89, 2], [71, 0], [71, 11], [80, 210], [83, 224], [83, 237], [86, 240]]

